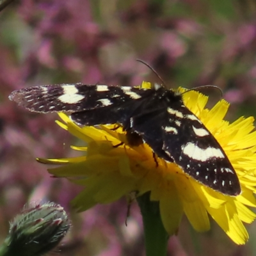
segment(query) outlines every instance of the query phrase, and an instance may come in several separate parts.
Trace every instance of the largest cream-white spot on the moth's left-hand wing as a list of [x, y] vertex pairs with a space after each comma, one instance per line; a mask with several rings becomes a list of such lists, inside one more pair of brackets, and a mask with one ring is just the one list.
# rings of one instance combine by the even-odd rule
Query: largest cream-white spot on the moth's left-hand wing
[[78, 90], [74, 85], [63, 85], [63, 95], [58, 97], [62, 103], [76, 104], [84, 99], [84, 95], [77, 94]]

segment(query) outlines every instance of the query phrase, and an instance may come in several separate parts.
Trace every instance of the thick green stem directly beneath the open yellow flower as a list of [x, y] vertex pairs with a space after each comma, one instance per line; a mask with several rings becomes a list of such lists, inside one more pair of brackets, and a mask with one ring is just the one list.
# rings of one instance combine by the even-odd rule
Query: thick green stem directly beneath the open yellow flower
[[137, 198], [140, 206], [147, 256], [166, 256], [168, 234], [163, 227], [159, 203], [150, 201], [150, 193]]

